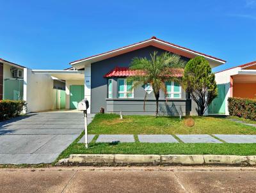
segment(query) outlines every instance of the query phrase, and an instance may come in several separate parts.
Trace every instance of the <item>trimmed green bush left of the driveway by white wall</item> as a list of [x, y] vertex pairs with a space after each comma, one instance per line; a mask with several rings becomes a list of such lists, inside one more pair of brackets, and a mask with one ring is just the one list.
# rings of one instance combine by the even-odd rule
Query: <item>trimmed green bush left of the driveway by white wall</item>
[[23, 100], [0, 100], [0, 120], [19, 116], [26, 102]]

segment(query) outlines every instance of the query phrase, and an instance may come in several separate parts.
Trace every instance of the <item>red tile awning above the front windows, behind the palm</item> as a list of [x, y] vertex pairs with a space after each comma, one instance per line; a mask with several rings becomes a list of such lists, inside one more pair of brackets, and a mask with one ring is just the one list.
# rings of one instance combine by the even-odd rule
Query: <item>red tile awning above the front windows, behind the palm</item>
[[[184, 70], [182, 68], [172, 69], [173, 77], [182, 77]], [[106, 73], [104, 77], [129, 77], [133, 75], [145, 75], [143, 70], [130, 70], [128, 67], [115, 67], [110, 72]]]

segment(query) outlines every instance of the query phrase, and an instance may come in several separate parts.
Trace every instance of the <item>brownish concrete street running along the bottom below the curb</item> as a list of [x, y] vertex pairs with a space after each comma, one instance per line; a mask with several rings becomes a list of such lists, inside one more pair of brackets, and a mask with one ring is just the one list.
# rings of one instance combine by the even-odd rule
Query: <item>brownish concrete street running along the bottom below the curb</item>
[[0, 169], [0, 192], [256, 192], [255, 167]]

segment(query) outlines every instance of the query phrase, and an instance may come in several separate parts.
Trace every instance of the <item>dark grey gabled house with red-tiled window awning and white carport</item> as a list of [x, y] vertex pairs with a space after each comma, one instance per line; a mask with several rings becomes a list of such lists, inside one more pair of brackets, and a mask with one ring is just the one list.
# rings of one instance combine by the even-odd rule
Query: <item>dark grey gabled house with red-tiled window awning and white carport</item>
[[[103, 107], [105, 112], [154, 114], [156, 102], [151, 86], [141, 85], [131, 90], [132, 82], [127, 81], [127, 77], [133, 73], [129, 70], [132, 59], [149, 58], [154, 51], [159, 54], [162, 52], [179, 54], [185, 61], [203, 56], [209, 61], [211, 68], [225, 63], [223, 59], [180, 47], [153, 36], [142, 42], [73, 61], [70, 63], [70, 68], [65, 70], [24, 68], [24, 100], [28, 103], [28, 112], [76, 109], [78, 102], [87, 98], [90, 102], [88, 113], [99, 112]], [[177, 75], [180, 76], [179, 73]], [[52, 89], [54, 80], [62, 81], [65, 84], [65, 91], [54, 92]], [[159, 98], [159, 114], [196, 114], [195, 102], [191, 101], [188, 93], [177, 82], [166, 83], [166, 90], [168, 98], [165, 98], [164, 93], [161, 93]], [[148, 96], [144, 111], [146, 92]], [[56, 103], [59, 104], [58, 107]]]

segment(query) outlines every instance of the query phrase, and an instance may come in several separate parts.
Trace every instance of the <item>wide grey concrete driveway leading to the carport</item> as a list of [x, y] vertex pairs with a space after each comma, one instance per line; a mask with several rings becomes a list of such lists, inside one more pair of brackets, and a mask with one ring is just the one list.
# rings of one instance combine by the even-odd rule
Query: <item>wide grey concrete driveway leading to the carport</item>
[[38, 112], [0, 122], [0, 164], [51, 163], [83, 128], [83, 113], [77, 111]]

